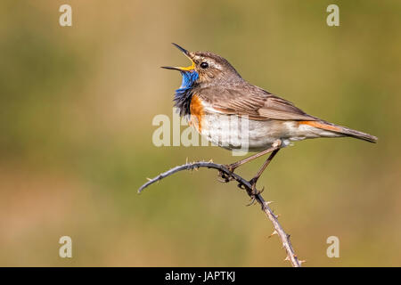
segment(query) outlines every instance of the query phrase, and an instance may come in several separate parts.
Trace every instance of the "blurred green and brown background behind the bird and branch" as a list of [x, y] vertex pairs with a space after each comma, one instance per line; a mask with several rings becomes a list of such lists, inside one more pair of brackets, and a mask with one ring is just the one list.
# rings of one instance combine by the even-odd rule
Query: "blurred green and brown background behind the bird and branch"
[[[72, 7], [72, 27], [59, 7]], [[328, 4], [340, 27], [326, 25]], [[2, 1], [0, 265], [289, 266], [258, 206], [185, 159], [216, 147], [155, 147], [188, 61], [223, 55], [252, 84], [316, 117], [379, 137], [296, 143], [259, 181], [306, 266], [401, 265], [401, 2]], [[184, 129], [185, 126], [182, 128]], [[263, 159], [240, 169], [254, 175]], [[58, 256], [69, 235], [73, 257]], [[340, 239], [340, 258], [326, 239]]]

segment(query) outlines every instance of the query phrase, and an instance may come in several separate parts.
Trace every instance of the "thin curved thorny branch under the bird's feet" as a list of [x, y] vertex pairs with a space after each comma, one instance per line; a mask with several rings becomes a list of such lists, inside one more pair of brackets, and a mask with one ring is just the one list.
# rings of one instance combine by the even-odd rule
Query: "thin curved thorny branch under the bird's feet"
[[300, 267], [301, 263], [304, 261], [300, 261], [297, 257], [297, 255], [294, 252], [294, 249], [292, 248], [291, 241], [290, 241], [290, 235], [284, 232], [282, 229], [282, 225], [278, 221], [278, 216], [274, 215], [272, 209], [269, 207], [269, 204], [271, 202], [265, 201], [263, 199], [262, 195], [260, 193], [254, 195], [252, 194], [252, 186], [250, 185], [250, 182], [242, 178], [240, 175], [237, 175], [233, 172], [231, 172], [227, 167], [221, 164], [216, 164], [211, 161], [206, 162], [206, 161], [198, 161], [198, 162], [192, 162], [192, 163], [186, 163], [182, 166], [177, 166], [174, 168], [171, 168], [170, 170], [154, 177], [153, 179], [149, 179], [147, 183], [144, 183], [141, 188], [139, 188], [138, 193], [142, 192], [143, 189], [151, 185], [152, 183], [156, 183], [160, 181], [163, 178], [168, 177], [169, 175], [173, 175], [176, 172], [182, 171], [182, 170], [192, 170], [192, 169], [198, 169], [201, 167], [206, 167], [206, 168], [214, 168], [217, 169], [222, 177], [225, 177], [225, 179], [228, 180], [235, 180], [238, 182], [238, 186], [241, 189], [245, 189], [250, 196], [251, 199], [255, 199], [258, 201], [260, 206], [262, 207], [262, 211], [266, 213], [266, 216], [269, 218], [269, 220], [273, 223], [274, 225], [274, 232], [272, 235], [277, 234], [280, 237], [280, 240], [282, 240], [282, 247], [285, 248], [287, 252], [287, 257], [285, 260], [289, 260], [291, 262], [291, 265], [293, 267]]

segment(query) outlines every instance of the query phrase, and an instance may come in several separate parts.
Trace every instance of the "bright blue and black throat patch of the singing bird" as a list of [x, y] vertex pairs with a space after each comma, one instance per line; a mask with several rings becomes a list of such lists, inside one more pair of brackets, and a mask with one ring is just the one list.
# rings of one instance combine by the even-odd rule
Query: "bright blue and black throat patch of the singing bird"
[[190, 115], [191, 100], [192, 100], [192, 88], [196, 85], [196, 80], [199, 78], [199, 74], [196, 71], [181, 71], [183, 82], [181, 86], [176, 89], [174, 96], [174, 106], [178, 108], [181, 117]]

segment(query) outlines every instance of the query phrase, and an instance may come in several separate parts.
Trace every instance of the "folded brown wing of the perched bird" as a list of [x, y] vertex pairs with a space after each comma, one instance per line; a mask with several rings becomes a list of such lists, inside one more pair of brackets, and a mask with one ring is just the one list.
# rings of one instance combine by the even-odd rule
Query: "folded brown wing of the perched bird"
[[225, 114], [267, 120], [316, 120], [291, 102], [253, 85], [209, 86], [196, 94], [210, 106]]

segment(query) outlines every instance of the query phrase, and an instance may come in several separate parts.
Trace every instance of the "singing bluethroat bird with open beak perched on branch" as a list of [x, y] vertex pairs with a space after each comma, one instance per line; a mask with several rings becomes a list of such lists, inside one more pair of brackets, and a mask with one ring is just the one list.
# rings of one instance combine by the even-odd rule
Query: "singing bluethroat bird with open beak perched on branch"
[[246, 123], [248, 149], [258, 153], [228, 165], [232, 172], [244, 163], [270, 153], [258, 174], [250, 180], [254, 194], [258, 193], [256, 183], [267, 165], [278, 151], [291, 142], [343, 136], [377, 141], [377, 137], [371, 134], [310, 116], [293, 103], [251, 85], [228, 61], [215, 53], [192, 53], [173, 45], [192, 62], [186, 68], [162, 67], [178, 70], [183, 77], [174, 98], [180, 116], [186, 116], [189, 123], [209, 141], [229, 150], [238, 148], [238, 143], [232, 142], [231, 138], [241, 136], [239, 133], [244, 131], [243, 124], [233, 124], [233, 127], [222, 122], [240, 118], [241, 123]]

